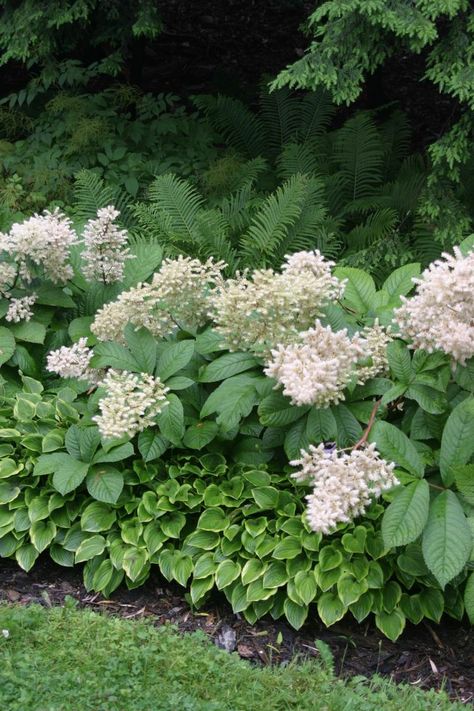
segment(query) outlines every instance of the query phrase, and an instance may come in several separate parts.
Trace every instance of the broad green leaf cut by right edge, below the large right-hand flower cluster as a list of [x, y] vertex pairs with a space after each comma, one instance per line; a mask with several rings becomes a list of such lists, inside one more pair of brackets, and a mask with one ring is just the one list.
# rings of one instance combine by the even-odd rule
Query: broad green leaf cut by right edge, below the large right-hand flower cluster
[[474, 453], [474, 398], [456, 405], [441, 438], [439, 466], [446, 486], [454, 481], [455, 468], [466, 464]]

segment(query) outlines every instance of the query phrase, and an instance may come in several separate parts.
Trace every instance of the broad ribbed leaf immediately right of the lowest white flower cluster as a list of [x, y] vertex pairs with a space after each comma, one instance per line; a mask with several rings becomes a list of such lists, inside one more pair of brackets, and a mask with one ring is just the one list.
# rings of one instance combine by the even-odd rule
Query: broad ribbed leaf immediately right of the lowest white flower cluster
[[387, 548], [404, 546], [421, 536], [428, 520], [430, 491], [425, 479], [414, 481], [397, 492], [382, 519]]

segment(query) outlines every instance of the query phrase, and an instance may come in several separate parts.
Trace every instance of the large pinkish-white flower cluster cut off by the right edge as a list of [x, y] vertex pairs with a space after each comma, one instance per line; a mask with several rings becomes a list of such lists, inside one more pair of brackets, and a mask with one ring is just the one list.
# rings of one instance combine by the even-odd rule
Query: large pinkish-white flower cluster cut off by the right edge
[[464, 364], [474, 356], [474, 251], [465, 257], [455, 247], [413, 281], [415, 296], [402, 297], [395, 312], [402, 337], [411, 348], [440, 350]]

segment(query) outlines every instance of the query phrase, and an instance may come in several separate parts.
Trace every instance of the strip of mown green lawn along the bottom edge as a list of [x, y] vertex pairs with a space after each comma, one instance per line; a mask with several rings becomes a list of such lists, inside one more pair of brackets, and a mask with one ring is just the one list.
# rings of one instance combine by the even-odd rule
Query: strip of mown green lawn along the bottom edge
[[[1, 630], [8, 630], [4, 636]], [[444, 694], [336, 679], [315, 662], [255, 668], [202, 634], [74, 606], [0, 605], [2, 711], [428, 711]]]

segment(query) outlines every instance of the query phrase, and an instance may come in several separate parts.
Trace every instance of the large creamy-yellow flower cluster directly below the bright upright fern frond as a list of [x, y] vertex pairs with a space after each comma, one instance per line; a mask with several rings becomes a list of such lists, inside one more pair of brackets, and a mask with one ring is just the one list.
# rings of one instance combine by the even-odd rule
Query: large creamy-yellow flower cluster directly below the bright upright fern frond
[[272, 348], [300, 340], [321, 310], [342, 296], [345, 283], [331, 273], [334, 262], [318, 250], [285, 257], [281, 273], [257, 269], [223, 281], [211, 317], [230, 350], [268, 356]]

